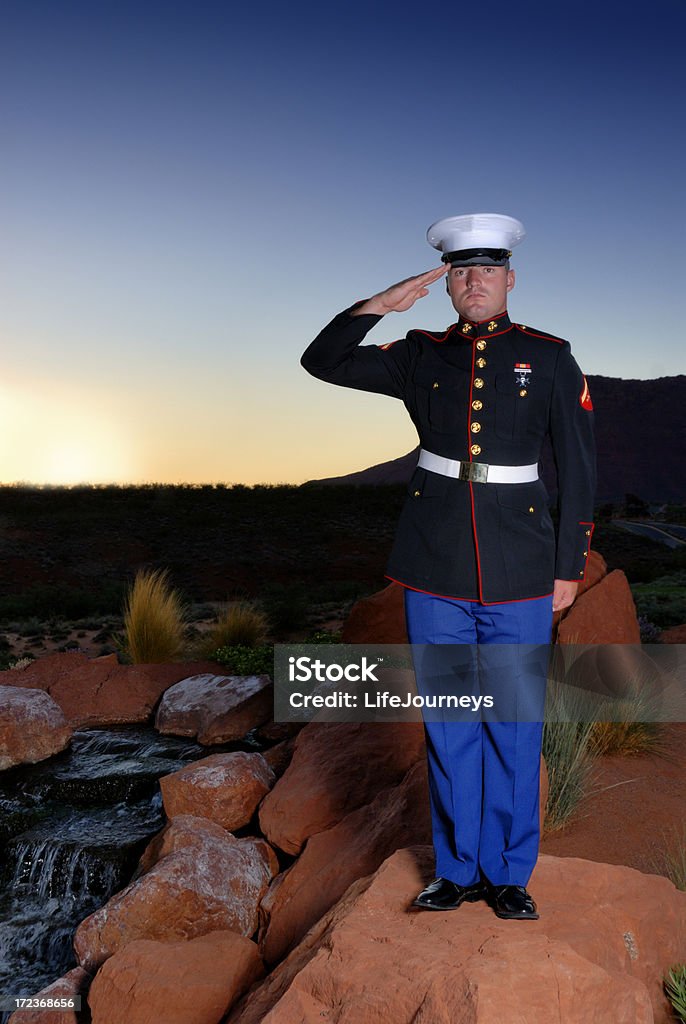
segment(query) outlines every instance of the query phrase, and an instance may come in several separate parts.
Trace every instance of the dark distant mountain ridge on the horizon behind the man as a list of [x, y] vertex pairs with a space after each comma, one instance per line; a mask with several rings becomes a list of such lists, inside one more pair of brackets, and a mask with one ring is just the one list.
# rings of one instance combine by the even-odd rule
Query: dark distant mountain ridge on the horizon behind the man
[[[624, 380], [588, 374], [587, 379], [596, 424], [596, 502], [621, 501], [626, 494], [648, 502], [686, 501], [686, 375]], [[417, 447], [398, 459], [355, 473], [308, 482], [405, 483], [417, 464], [418, 452]], [[548, 439], [541, 475], [554, 497], [556, 473]]]

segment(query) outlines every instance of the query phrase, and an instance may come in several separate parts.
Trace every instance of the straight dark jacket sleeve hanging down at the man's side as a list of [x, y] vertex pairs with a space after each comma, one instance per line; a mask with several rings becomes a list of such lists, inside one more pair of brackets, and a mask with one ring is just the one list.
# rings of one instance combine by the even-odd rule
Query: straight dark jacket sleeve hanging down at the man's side
[[559, 524], [555, 579], [586, 575], [596, 493], [596, 447], [589, 386], [565, 341], [553, 381], [550, 435], [557, 467]]

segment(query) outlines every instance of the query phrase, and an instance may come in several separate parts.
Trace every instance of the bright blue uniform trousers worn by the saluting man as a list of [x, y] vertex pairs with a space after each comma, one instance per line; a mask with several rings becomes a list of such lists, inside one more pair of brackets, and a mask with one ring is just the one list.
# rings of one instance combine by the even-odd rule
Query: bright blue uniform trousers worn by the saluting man
[[[461, 721], [424, 713], [436, 876], [525, 886], [541, 838], [543, 722], [532, 719], [545, 706], [552, 595], [484, 605], [405, 588], [404, 607], [411, 644], [465, 645], [454, 648], [453, 692], [497, 694], [491, 721], [471, 711]], [[481, 646], [490, 644], [508, 646]], [[444, 692], [445, 670], [430, 655], [430, 647], [413, 649], [418, 691], [442, 673]]]

